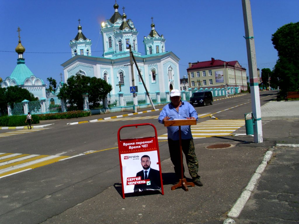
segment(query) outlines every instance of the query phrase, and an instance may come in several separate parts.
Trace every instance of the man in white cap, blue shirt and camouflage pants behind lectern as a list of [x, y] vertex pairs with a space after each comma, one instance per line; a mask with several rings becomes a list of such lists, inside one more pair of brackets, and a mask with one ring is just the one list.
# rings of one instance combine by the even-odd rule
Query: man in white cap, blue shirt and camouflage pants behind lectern
[[[179, 90], [174, 89], [170, 92], [170, 104], [167, 104], [162, 109], [158, 121], [164, 124], [164, 121], [173, 119], [198, 119], [197, 112], [193, 106], [186, 101], [181, 101], [181, 93]], [[170, 159], [174, 165], [174, 171], [176, 176], [181, 178], [181, 161], [180, 161], [180, 146], [179, 146], [179, 127], [168, 126], [168, 147], [170, 152]], [[193, 137], [191, 133], [191, 126], [181, 126], [181, 144], [182, 151], [185, 154], [189, 174], [192, 177], [194, 184], [202, 186], [202, 182], [199, 180], [198, 175], [198, 159], [195, 154], [195, 148], [193, 143]], [[183, 173], [184, 173], [183, 166]]]

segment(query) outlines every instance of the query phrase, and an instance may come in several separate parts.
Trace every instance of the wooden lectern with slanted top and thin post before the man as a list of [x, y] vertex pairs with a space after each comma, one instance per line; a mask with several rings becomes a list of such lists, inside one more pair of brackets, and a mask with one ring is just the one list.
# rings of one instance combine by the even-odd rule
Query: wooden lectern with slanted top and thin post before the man
[[[164, 121], [164, 126], [179, 126], [179, 143], [180, 143], [180, 160], [181, 160], [181, 179], [179, 183], [171, 187], [171, 190], [175, 190], [178, 187], [182, 187], [185, 191], [188, 191], [187, 185], [194, 187], [193, 182], [187, 182], [183, 173], [183, 152], [182, 152], [182, 139], [181, 139], [181, 125], [196, 125], [196, 119], [183, 119], [183, 120], [168, 120]], [[171, 150], [171, 149], [170, 149]]]

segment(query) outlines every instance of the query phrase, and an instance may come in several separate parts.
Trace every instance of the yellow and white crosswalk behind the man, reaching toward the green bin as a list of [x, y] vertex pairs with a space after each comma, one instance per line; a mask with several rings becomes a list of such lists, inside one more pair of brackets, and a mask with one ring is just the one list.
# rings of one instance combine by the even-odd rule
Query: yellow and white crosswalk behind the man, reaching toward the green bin
[[[245, 125], [244, 120], [208, 120], [191, 126], [194, 139], [212, 136], [231, 135]], [[158, 139], [167, 139], [167, 133], [158, 136]]]

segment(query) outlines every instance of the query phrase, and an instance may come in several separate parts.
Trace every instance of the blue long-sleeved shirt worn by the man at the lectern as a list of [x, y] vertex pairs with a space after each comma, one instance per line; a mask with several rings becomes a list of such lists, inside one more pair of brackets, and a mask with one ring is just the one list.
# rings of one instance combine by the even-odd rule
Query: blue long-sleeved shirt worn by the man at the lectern
[[[164, 117], [168, 116], [169, 120], [173, 119], [186, 119], [187, 117], [195, 117], [196, 121], [198, 120], [197, 112], [194, 107], [186, 102], [181, 101], [182, 104], [179, 106], [179, 112], [176, 111], [176, 108], [172, 105], [172, 103], [167, 104], [162, 109], [158, 121], [163, 124]], [[167, 127], [168, 138], [172, 140], [179, 140], [179, 126], [168, 126]], [[191, 126], [184, 125], [181, 126], [181, 138], [182, 139], [191, 139]]]

